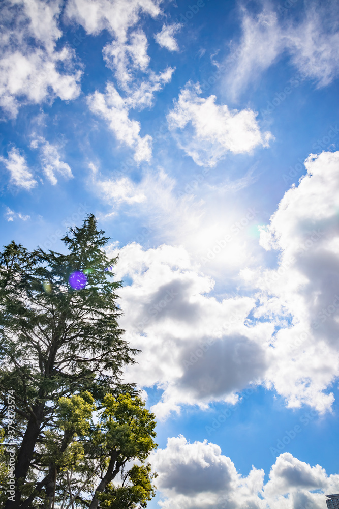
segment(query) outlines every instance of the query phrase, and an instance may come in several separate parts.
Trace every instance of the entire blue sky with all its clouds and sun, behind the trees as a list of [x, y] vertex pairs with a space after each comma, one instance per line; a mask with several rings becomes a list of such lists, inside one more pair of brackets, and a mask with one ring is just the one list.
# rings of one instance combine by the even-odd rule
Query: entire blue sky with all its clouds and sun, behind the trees
[[[333, 1], [6, 0], [2, 242], [119, 253], [164, 509], [339, 492]], [[159, 505], [158, 505], [159, 504]]]

